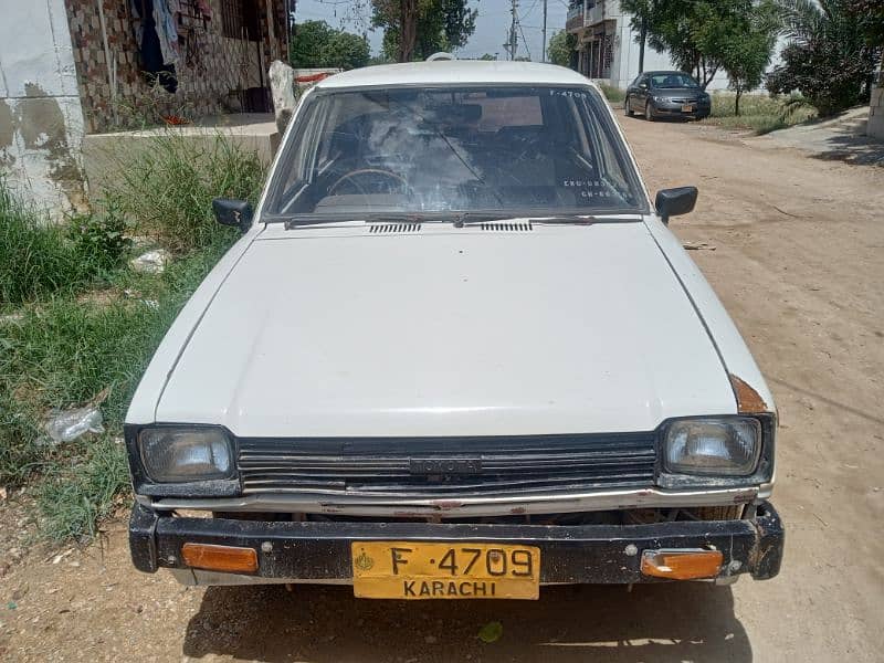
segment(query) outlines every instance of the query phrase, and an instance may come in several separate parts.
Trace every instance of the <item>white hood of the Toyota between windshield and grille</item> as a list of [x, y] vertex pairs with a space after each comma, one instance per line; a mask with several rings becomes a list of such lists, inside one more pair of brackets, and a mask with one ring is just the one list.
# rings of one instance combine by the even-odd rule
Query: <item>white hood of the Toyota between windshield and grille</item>
[[156, 420], [241, 436], [494, 435], [652, 430], [735, 409], [643, 223], [424, 225], [256, 240]]

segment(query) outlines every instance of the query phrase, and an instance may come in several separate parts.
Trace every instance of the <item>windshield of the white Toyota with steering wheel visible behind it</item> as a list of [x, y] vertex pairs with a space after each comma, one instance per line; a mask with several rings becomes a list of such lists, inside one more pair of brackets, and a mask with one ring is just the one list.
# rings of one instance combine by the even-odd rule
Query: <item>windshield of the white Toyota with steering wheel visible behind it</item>
[[589, 88], [333, 91], [305, 103], [274, 171], [269, 221], [646, 208], [604, 102]]

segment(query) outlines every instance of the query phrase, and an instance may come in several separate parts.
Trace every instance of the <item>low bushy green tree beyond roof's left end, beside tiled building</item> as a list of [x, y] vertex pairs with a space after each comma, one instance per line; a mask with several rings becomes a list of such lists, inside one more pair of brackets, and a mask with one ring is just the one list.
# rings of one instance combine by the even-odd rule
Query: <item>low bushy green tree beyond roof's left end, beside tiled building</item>
[[325, 21], [305, 21], [292, 30], [290, 55], [296, 67], [356, 69], [368, 64], [368, 40], [335, 30]]

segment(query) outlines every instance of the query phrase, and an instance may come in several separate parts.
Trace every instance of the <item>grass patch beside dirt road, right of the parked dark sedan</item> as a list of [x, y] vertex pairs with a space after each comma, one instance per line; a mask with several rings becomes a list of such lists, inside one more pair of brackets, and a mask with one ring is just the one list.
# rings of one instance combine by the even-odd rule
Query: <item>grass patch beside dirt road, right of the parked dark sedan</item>
[[740, 114], [736, 114], [736, 95], [716, 92], [712, 95], [712, 115], [704, 124], [726, 129], [749, 129], [755, 134], [768, 134], [815, 117], [809, 105], [790, 106], [794, 98], [771, 97], [762, 94], [744, 94], [739, 101]]

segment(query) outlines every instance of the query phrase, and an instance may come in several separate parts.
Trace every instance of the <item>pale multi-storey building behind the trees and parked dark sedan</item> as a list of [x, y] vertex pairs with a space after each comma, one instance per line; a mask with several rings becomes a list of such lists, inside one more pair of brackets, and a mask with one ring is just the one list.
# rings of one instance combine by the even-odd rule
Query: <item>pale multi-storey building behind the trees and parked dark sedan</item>
[[[625, 88], [639, 75], [639, 43], [619, 0], [571, 0], [565, 29], [577, 38], [577, 71], [589, 78]], [[678, 69], [665, 53], [644, 49], [644, 71]], [[708, 90], [727, 87], [719, 72]]]

